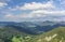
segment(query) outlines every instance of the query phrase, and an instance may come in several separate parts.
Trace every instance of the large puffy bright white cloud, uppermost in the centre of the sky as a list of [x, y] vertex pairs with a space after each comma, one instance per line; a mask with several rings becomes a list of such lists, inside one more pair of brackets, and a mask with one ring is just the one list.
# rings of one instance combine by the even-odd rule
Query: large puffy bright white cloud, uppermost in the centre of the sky
[[39, 10], [39, 9], [54, 9], [52, 1], [49, 1], [47, 3], [40, 3], [40, 2], [31, 2], [31, 3], [25, 3], [23, 6], [21, 6], [22, 10]]

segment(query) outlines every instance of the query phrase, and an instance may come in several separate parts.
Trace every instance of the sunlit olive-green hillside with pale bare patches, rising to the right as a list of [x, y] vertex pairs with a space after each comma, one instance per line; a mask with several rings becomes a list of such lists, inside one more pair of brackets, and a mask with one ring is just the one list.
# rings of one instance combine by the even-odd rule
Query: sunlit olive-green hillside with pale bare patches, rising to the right
[[58, 27], [44, 34], [40, 34], [31, 42], [65, 42], [65, 27]]

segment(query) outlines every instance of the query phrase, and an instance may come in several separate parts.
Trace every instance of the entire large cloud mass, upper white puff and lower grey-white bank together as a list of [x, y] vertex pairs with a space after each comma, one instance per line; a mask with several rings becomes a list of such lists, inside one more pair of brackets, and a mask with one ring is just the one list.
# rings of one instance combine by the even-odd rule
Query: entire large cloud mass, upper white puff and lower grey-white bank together
[[[64, 4], [64, 3], [63, 3]], [[31, 10], [27, 13], [27, 11]], [[25, 14], [11, 14], [12, 12], [16, 11], [25, 11]], [[64, 19], [65, 17], [65, 10], [58, 10], [57, 6], [54, 4], [53, 1], [48, 1], [46, 3], [41, 2], [31, 2], [31, 3], [25, 3], [24, 5], [16, 8], [9, 8], [9, 13], [5, 12], [5, 18], [11, 20], [43, 20], [43, 19]]]

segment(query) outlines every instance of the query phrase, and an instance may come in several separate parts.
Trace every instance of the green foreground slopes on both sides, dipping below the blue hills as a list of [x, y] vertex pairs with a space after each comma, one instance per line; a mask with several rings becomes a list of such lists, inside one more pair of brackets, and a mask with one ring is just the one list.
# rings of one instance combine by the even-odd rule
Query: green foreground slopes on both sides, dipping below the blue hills
[[65, 27], [37, 36], [21, 32], [13, 27], [0, 27], [0, 42], [65, 42]]

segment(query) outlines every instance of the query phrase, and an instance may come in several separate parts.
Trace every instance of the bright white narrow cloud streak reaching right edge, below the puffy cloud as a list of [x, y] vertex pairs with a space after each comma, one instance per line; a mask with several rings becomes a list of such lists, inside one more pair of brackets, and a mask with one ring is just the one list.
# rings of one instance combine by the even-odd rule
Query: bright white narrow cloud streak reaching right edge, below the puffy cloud
[[65, 15], [65, 10], [63, 11], [48, 11], [48, 10], [37, 10], [32, 11], [32, 14], [49, 14], [49, 15]]

